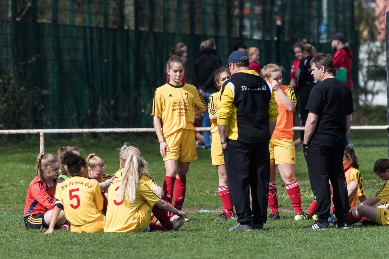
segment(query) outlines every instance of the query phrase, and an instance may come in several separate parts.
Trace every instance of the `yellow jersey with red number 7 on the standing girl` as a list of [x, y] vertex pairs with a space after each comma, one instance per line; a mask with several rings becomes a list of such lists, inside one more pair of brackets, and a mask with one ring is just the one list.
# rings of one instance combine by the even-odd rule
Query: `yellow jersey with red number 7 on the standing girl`
[[151, 116], [162, 119], [162, 134], [166, 137], [179, 129], [196, 130], [193, 126], [196, 108], [206, 111], [207, 104], [194, 85], [166, 83], [155, 90]]

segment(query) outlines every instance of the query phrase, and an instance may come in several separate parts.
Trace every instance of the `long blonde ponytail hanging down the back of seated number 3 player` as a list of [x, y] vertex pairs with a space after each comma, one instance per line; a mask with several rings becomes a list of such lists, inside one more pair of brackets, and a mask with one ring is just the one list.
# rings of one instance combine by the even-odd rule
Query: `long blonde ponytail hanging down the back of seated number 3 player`
[[124, 165], [123, 177], [119, 184], [119, 198], [127, 200], [130, 204], [134, 203], [136, 199], [138, 181], [143, 173], [147, 173], [146, 161], [134, 154], [127, 158], [126, 165]]

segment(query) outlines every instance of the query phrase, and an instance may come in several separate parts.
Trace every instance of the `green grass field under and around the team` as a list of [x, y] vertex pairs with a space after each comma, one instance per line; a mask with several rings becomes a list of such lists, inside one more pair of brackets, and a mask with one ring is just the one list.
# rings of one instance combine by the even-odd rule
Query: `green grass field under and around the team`
[[[352, 131], [351, 143], [359, 159], [364, 178], [366, 196], [372, 196], [382, 181], [372, 172], [378, 158], [388, 156], [387, 132]], [[159, 155], [154, 134], [99, 135], [97, 139], [78, 135], [74, 139], [57, 140], [46, 135], [46, 153], [56, 155], [61, 146], [76, 145], [81, 155], [89, 153], [103, 158], [106, 172], [114, 174], [119, 167], [116, 148], [125, 141], [137, 146], [149, 162], [149, 173], [163, 184], [165, 169]], [[157, 143], [157, 144], [156, 144]], [[39, 153], [39, 138], [28, 140], [7, 139], [0, 146], [0, 258], [109, 258], [109, 257], [304, 257], [304, 258], [354, 258], [384, 257], [389, 254], [385, 240], [386, 227], [363, 227], [361, 224], [347, 230], [329, 229], [314, 231], [304, 229], [313, 221], [296, 222], [293, 207], [287, 197], [280, 177], [277, 177], [281, 220], [267, 222], [265, 231], [247, 233], [230, 232], [234, 221], [215, 222], [222, 209], [217, 194], [217, 171], [210, 163], [210, 151], [199, 149], [199, 160], [192, 163], [187, 177], [184, 211], [193, 220], [179, 231], [152, 233], [95, 233], [75, 234], [55, 231], [41, 235], [43, 230], [26, 230], [23, 209], [26, 191], [36, 176], [35, 159]], [[303, 193], [303, 209], [307, 210], [312, 196], [307, 165], [302, 149], [296, 149], [296, 178]], [[199, 213], [198, 210], [214, 210]]]

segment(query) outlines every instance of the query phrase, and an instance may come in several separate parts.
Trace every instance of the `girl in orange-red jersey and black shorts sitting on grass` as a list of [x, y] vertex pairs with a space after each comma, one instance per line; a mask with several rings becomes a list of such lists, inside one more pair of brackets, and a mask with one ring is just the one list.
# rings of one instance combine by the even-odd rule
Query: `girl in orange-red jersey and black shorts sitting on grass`
[[55, 179], [58, 178], [59, 173], [60, 163], [55, 156], [44, 153], [38, 155], [37, 176], [28, 187], [24, 209], [26, 229], [49, 228], [50, 224], [54, 229], [55, 225], [63, 225], [67, 222], [63, 212], [51, 221], [57, 186]]

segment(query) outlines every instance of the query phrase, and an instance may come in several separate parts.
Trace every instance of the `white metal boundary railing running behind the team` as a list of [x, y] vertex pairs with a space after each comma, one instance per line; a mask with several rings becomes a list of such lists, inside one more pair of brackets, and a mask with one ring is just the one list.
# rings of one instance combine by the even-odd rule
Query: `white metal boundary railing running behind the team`
[[[388, 130], [389, 125], [379, 126], [351, 126], [352, 130]], [[210, 131], [210, 127], [198, 127], [197, 131]], [[304, 130], [304, 127], [293, 127], [293, 130]], [[45, 134], [64, 133], [127, 133], [127, 132], [155, 132], [154, 128], [119, 128], [119, 129], [25, 129], [0, 130], [0, 134], [39, 134], [40, 152], [45, 151]]]

